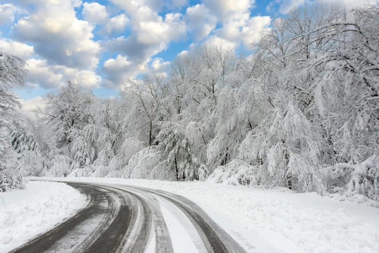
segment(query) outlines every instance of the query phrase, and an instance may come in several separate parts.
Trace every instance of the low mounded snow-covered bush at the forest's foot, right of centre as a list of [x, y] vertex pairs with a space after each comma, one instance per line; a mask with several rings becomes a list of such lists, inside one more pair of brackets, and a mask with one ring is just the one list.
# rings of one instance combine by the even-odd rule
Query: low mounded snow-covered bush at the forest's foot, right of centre
[[241, 160], [232, 160], [225, 166], [219, 166], [209, 175], [206, 182], [227, 185], [257, 186], [257, 168]]

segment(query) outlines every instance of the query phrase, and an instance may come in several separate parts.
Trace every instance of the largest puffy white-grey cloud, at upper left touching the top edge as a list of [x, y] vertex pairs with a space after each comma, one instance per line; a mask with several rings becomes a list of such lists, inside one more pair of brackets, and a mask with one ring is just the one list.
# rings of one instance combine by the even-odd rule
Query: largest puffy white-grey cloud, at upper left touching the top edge
[[46, 1], [14, 26], [16, 38], [32, 42], [34, 52], [49, 63], [91, 69], [98, 63], [100, 45], [92, 40], [93, 26], [76, 18], [77, 1]]

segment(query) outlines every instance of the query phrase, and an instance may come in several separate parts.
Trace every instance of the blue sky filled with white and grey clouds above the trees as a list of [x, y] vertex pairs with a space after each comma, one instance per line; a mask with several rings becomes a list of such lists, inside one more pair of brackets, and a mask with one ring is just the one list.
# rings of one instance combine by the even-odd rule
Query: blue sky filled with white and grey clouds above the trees
[[16, 93], [31, 110], [68, 80], [101, 97], [117, 95], [127, 79], [167, 73], [169, 61], [202, 43], [249, 51], [272, 20], [306, 1], [0, 0], [0, 51], [28, 64]]

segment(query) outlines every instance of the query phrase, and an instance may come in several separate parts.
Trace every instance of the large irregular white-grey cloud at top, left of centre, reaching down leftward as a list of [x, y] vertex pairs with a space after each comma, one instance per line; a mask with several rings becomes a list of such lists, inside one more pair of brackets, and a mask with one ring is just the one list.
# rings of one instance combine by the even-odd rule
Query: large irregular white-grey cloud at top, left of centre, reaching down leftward
[[[116, 59], [104, 63], [105, 84], [109, 87], [125, 87], [128, 78], [135, 78], [147, 71], [147, 63], [154, 55], [166, 49], [171, 41], [178, 41], [187, 34], [180, 13], [168, 13], [162, 17], [148, 4], [135, 3], [131, 1], [126, 6], [131, 35], [103, 42], [104, 48], [121, 53]], [[120, 68], [115, 63], [127, 67]]]

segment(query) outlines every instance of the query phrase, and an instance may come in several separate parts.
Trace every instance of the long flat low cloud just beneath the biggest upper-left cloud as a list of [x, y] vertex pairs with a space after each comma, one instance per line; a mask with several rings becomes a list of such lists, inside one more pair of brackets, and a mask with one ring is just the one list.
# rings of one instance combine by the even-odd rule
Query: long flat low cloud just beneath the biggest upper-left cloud
[[67, 81], [78, 83], [86, 88], [98, 88], [101, 77], [94, 71], [69, 68], [63, 65], [49, 65], [46, 60], [29, 59], [28, 76], [25, 79], [29, 87], [42, 87], [44, 89], [58, 89]]

